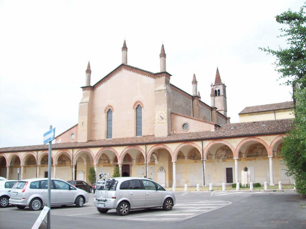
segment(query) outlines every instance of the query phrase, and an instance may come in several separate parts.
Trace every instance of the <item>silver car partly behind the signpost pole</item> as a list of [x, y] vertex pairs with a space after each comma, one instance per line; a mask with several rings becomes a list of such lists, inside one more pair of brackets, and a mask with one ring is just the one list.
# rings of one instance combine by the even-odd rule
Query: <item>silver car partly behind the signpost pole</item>
[[[82, 189], [59, 179], [51, 179], [50, 205], [73, 205], [82, 207], [89, 200], [89, 195]], [[22, 209], [26, 206], [38, 211], [48, 204], [48, 178], [18, 180], [12, 187], [9, 204]]]

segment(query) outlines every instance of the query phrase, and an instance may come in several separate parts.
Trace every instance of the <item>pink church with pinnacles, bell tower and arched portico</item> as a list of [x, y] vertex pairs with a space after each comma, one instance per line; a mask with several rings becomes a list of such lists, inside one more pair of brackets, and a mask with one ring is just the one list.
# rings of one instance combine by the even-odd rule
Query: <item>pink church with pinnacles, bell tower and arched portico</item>
[[[279, 156], [288, 118], [230, 123], [226, 85], [217, 68], [211, 105], [201, 101], [195, 74], [192, 95], [170, 83], [162, 45], [160, 72], [122, 63], [91, 85], [90, 63], [79, 103], [77, 124], [55, 138], [51, 177], [88, 180], [97, 174], [149, 177], [166, 187], [241, 182], [248, 167], [252, 182], [292, 184]], [[128, 87], [127, 87], [128, 85]], [[129, 88], [126, 90], [126, 88]], [[0, 148], [0, 176], [46, 177], [46, 145]]]

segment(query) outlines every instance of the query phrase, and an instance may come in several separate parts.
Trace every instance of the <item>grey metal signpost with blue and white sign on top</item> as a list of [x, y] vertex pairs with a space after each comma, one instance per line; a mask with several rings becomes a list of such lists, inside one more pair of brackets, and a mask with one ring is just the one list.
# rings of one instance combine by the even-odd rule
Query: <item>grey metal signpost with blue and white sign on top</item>
[[50, 125], [49, 131], [43, 134], [43, 144], [49, 143], [49, 154], [48, 154], [48, 216], [47, 216], [47, 228], [50, 229], [50, 202], [51, 202], [51, 152], [52, 152], [52, 141], [54, 140], [55, 128], [52, 129]]

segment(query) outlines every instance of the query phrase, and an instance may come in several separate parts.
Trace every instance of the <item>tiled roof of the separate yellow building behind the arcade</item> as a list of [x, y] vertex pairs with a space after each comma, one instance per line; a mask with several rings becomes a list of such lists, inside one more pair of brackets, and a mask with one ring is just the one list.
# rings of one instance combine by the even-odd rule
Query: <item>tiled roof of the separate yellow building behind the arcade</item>
[[247, 113], [255, 113], [255, 112], [263, 112], [263, 111], [274, 111], [274, 110], [283, 110], [283, 109], [293, 109], [293, 101], [283, 102], [283, 103], [276, 103], [276, 104], [265, 104], [265, 105], [258, 105], [252, 107], [245, 107], [240, 114], [247, 114]]

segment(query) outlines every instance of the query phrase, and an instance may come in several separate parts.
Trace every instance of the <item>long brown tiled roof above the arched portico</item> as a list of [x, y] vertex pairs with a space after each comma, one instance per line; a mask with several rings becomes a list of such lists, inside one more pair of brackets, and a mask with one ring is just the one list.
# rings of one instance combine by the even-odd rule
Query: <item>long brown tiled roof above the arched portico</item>
[[[289, 132], [292, 127], [293, 127], [292, 119], [229, 123], [221, 126], [214, 132], [173, 134], [166, 137], [143, 136], [143, 137], [118, 138], [118, 139], [89, 141], [85, 143], [57, 143], [57, 144], [52, 144], [52, 149], [157, 144], [157, 143], [178, 142], [178, 141], [194, 141], [194, 140], [220, 139], [220, 138], [240, 137], [240, 136], [280, 134], [280, 133]], [[36, 151], [36, 150], [48, 150], [48, 145], [4, 147], [0, 148], [0, 153], [13, 152], [13, 151]]]

